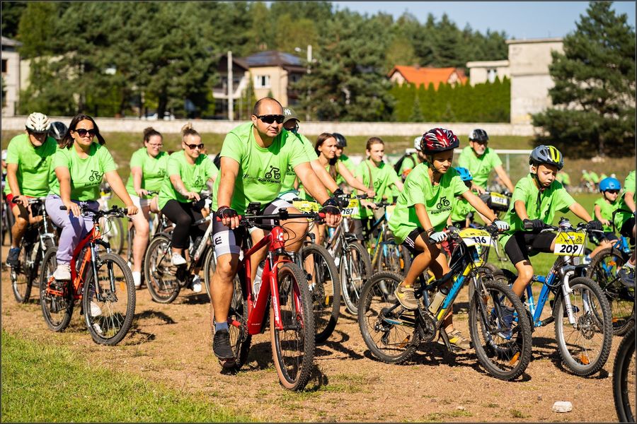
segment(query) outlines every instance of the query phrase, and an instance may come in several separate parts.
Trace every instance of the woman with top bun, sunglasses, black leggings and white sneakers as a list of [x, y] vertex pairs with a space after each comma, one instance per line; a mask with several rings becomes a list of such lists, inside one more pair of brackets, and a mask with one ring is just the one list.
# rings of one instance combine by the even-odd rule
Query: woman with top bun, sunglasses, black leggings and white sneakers
[[[188, 235], [196, 239], [205, 231], [199, 227], [191, 227], [196, 220], [203, 218], [201, 208], [195, 206], [193, 201], [200, 200], [199, 193], [207, 187], [208, 179], [214, 181], [217, 178], [219, 170], [212, 160], [201, 153], [203, 146], [201, 136], [193, 129], [193, 124], [185, 124], [181, 129], [183, 150], [168, 158], [168, 178], [163, 179], [159, 192], [161, 213], [175, 223], [171, 247], [171, 263], [174, 266], [186, 263], [183, 249], [190, 245]], [[193, 280], [193, 291], [201, 291], [198, 276]]]

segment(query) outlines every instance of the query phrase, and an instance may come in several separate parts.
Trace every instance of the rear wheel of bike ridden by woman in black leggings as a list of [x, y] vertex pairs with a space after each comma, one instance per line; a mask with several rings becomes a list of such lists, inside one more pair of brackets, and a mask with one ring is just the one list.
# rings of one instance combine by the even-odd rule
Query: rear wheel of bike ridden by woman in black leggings
[[171, 303], [179, 295], [181, 285], [173, 268], [170, 237], [163, 234], [155, 235], [144, 255], [144, 278], [155, 302]]

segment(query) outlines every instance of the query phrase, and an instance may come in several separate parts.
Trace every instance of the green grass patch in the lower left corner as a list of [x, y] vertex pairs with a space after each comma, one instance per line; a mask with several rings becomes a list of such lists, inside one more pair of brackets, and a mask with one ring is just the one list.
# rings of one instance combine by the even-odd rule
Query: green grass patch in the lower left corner
[[186, 394], [112, 372], [63, 346], [35, 343], [2, 331], [2, 421], [227, 422], [251, 420]]

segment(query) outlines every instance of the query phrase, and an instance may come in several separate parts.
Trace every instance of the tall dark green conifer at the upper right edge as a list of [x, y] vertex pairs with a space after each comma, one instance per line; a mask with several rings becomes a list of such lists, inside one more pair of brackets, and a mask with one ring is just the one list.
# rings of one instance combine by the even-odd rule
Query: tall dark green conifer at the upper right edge
[[635, 30], [611, 3], [590, 2], [576, 29], [553, 52], [549, 90], [553, 107], [533, 124], [575, 155], [630, 155], [635, 138]]

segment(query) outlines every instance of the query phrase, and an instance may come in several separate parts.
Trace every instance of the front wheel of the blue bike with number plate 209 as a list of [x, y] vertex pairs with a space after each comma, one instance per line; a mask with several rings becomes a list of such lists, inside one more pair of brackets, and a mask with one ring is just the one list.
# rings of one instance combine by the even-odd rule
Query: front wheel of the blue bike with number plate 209
[[[570, 324], [568, 318], [564, 317], [566, 308], [561, 290], [558, 291], [553, 305], [555, 338], [564, 365], [566, 365], [568, 370], [573, 372], [573, 374], [585, 377], [601, 370], [608, 359], [613, 337], [611, 311], [606, 295], [604, 295], [604, 292], [595, 281], [587, 277], [578, 277], [570, 280], [569, 285], [572, 290], [570, 294], [571, 305], [579, 308], [578, 311], [573, 311], [578, 323], [578, 328], [575, 329], [575, 331], [577, 331], [575, 334], [578, 336], [576, 338], [580, 339], [587, 346], [576, 348], [574, 345], [577, 340], [573, 340], [573, 338], [565, 334], [565, 327], [567, 325], [570, 327]], [[576, 297], [580, 294], [578, 290], [582, 290], [581, 300]], [[594, 295], [595, 298], [597, 298], [597, 302], [589, 300], [585, 307], [585, 293]], [[593, 309], [593, 312], [587, 311], [587, 309], [590, 308]], [[599, 318], [602, 319], [602, 322], [599, 322]], [[597, 337], [599, 353], [596, 358], [591, 359], [589, 353], [592, 352], [592, 348], [590, 348], [592, 342], [590, 342], [590, 340], [599, 332], [597, 330], [602, 331], [601, 340]], [[587, 341], [583, 341], [584, 338], [587, 339]], [[576, 358], [576, 355], [570, 353], [569, 347], [576, 348], [576, 355], [579, 355], [578, 358]]]

